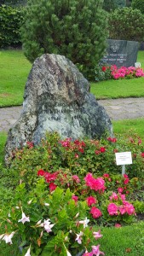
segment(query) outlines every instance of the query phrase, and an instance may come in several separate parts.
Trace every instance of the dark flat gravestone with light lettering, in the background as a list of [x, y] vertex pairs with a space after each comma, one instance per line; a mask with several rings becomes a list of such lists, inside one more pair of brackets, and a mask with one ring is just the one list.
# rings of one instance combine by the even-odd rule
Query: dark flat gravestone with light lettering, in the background
[[107, 44], [107, 54], [102, 58], [102, 62], [117, 67], [135, 67], [138, 42], [108, 39]]

